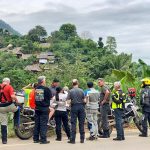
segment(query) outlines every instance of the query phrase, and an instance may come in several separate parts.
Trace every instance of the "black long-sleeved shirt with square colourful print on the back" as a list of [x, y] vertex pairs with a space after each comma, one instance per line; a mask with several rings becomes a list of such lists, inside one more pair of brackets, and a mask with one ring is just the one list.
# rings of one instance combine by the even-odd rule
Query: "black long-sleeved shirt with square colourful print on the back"
[[35, 104], [37, 110], [48, 111], [50, 106], [50, 99], [52, 98], [52, 93], [48, 87], [38, 86], [35, 89]]

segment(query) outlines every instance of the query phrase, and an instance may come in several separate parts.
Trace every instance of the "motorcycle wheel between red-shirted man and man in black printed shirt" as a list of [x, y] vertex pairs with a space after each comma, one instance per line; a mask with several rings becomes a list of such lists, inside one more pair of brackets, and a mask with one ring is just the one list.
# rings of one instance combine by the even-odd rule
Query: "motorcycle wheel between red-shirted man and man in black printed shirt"
[[24, 125], [24, 123], [32, 122], [30, 118], [26, 118], [24, 116], [20, 116], [20, 125], [15, 127], [15, 134], [21, 140], [27, 140], [33, 135], [33, 128], [28, 128], [29, 125]]

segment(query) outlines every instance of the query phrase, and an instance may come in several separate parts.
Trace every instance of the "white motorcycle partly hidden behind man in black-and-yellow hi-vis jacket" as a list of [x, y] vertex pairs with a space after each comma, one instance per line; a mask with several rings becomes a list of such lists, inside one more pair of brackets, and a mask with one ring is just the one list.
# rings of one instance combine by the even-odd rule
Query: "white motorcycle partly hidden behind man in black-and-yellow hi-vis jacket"
[[[129, 124], [134, 122], [135, 126], [138, 128], [140, 132], [143, 131], [142, 128], [142, 117], [140, 116], [140, 113], [138, 112], [139, 108], [136, 105], [136, 99], [128, 99], [128, 101], [125, 103], [125, 109], [124, 109], [124, 115], [123, 115], [123, 126], [128, 127]], [[101, 115], [98, 114], [98, 131], [99, 134], [103, 134], [102, 130], [102, 123], [101, 123]], [[115, 127], [115, 117], [113, 114], [113, 110], [110, 110], [110, 113], [108, 115], [108, 123], [109, 123], [109, 134], [112, 133], [113, 128]]]

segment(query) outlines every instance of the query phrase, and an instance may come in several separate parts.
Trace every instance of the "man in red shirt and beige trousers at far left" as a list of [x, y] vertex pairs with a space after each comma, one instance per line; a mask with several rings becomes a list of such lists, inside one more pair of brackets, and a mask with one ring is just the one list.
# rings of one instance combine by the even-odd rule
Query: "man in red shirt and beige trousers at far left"
[[10, 85], [10, 79], [4, 78], [3, 83], [0, 85], [0, 123], [3, 144], [7, 144], [7, 113], [18, 110], [13, 102], [18, 102], [14, 89]]

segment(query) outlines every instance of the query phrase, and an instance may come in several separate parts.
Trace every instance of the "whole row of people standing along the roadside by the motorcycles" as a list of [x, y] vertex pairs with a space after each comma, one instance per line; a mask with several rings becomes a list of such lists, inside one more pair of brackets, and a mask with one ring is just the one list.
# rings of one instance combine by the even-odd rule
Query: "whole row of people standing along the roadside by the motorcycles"
[[[142, 81], [141, 106], [143, 110], [143, 132], [140, 136], [148, 136], [147, 121], [150, 123], [150, 89], [149, 79]], [[31, 86], [31, 85], [30, 85]], [[72, 88], [60, 87], [59, 80], [54, 79], [51, 87], [46, 86], [46, 77], [38, 77], [38, 83], [32, 90], [32, 103], [35, 109], [35, 127], [33, 132], [34, 143], [48, 144], [47, 129], [51, 117], [54, 115], [56, 121], [56, 140], [62, 140], [61, 127], [62, 123], [64, 131], [68, 137], [68, 143], [76, 142], [76, 126], [77, 119], [79, 122], [80, 143], [85, 142], [84, 123], [87, 118], [90, 136], [88, 140], [96, 140], [99, 138], [109, 138], [108, 113], [110, 108], [114, 110], [117, 136], [113, 138], [115, 141], [125, 140], [122, 117], [126, 95], [121, 89], [119, 81], [114, 83], [114, 90], [105, 84], [103, 78], [98, 79], [100, 91], [94, 88], [93, 82], [87, 82], [87, 89], [83, 90], [79, 87], [77, 79], [72, 80]], [[14, 103], [18, 103], [14, 89], [10, 85], [10, 79], [4, 78], [0, 85], [0, 123], [2, 143], [7, 144], [7, 113], [17, 113], [18, 108]], [[56, 104], [55, 107], [53, 104]], [[71, 128], [68, 125], [67, 107], [70, 106]], [[56, 107], [57, 106], [57, 107]], [[100, 110], [101, 123], [103, 133], [98, 132], [98, 110]]]

